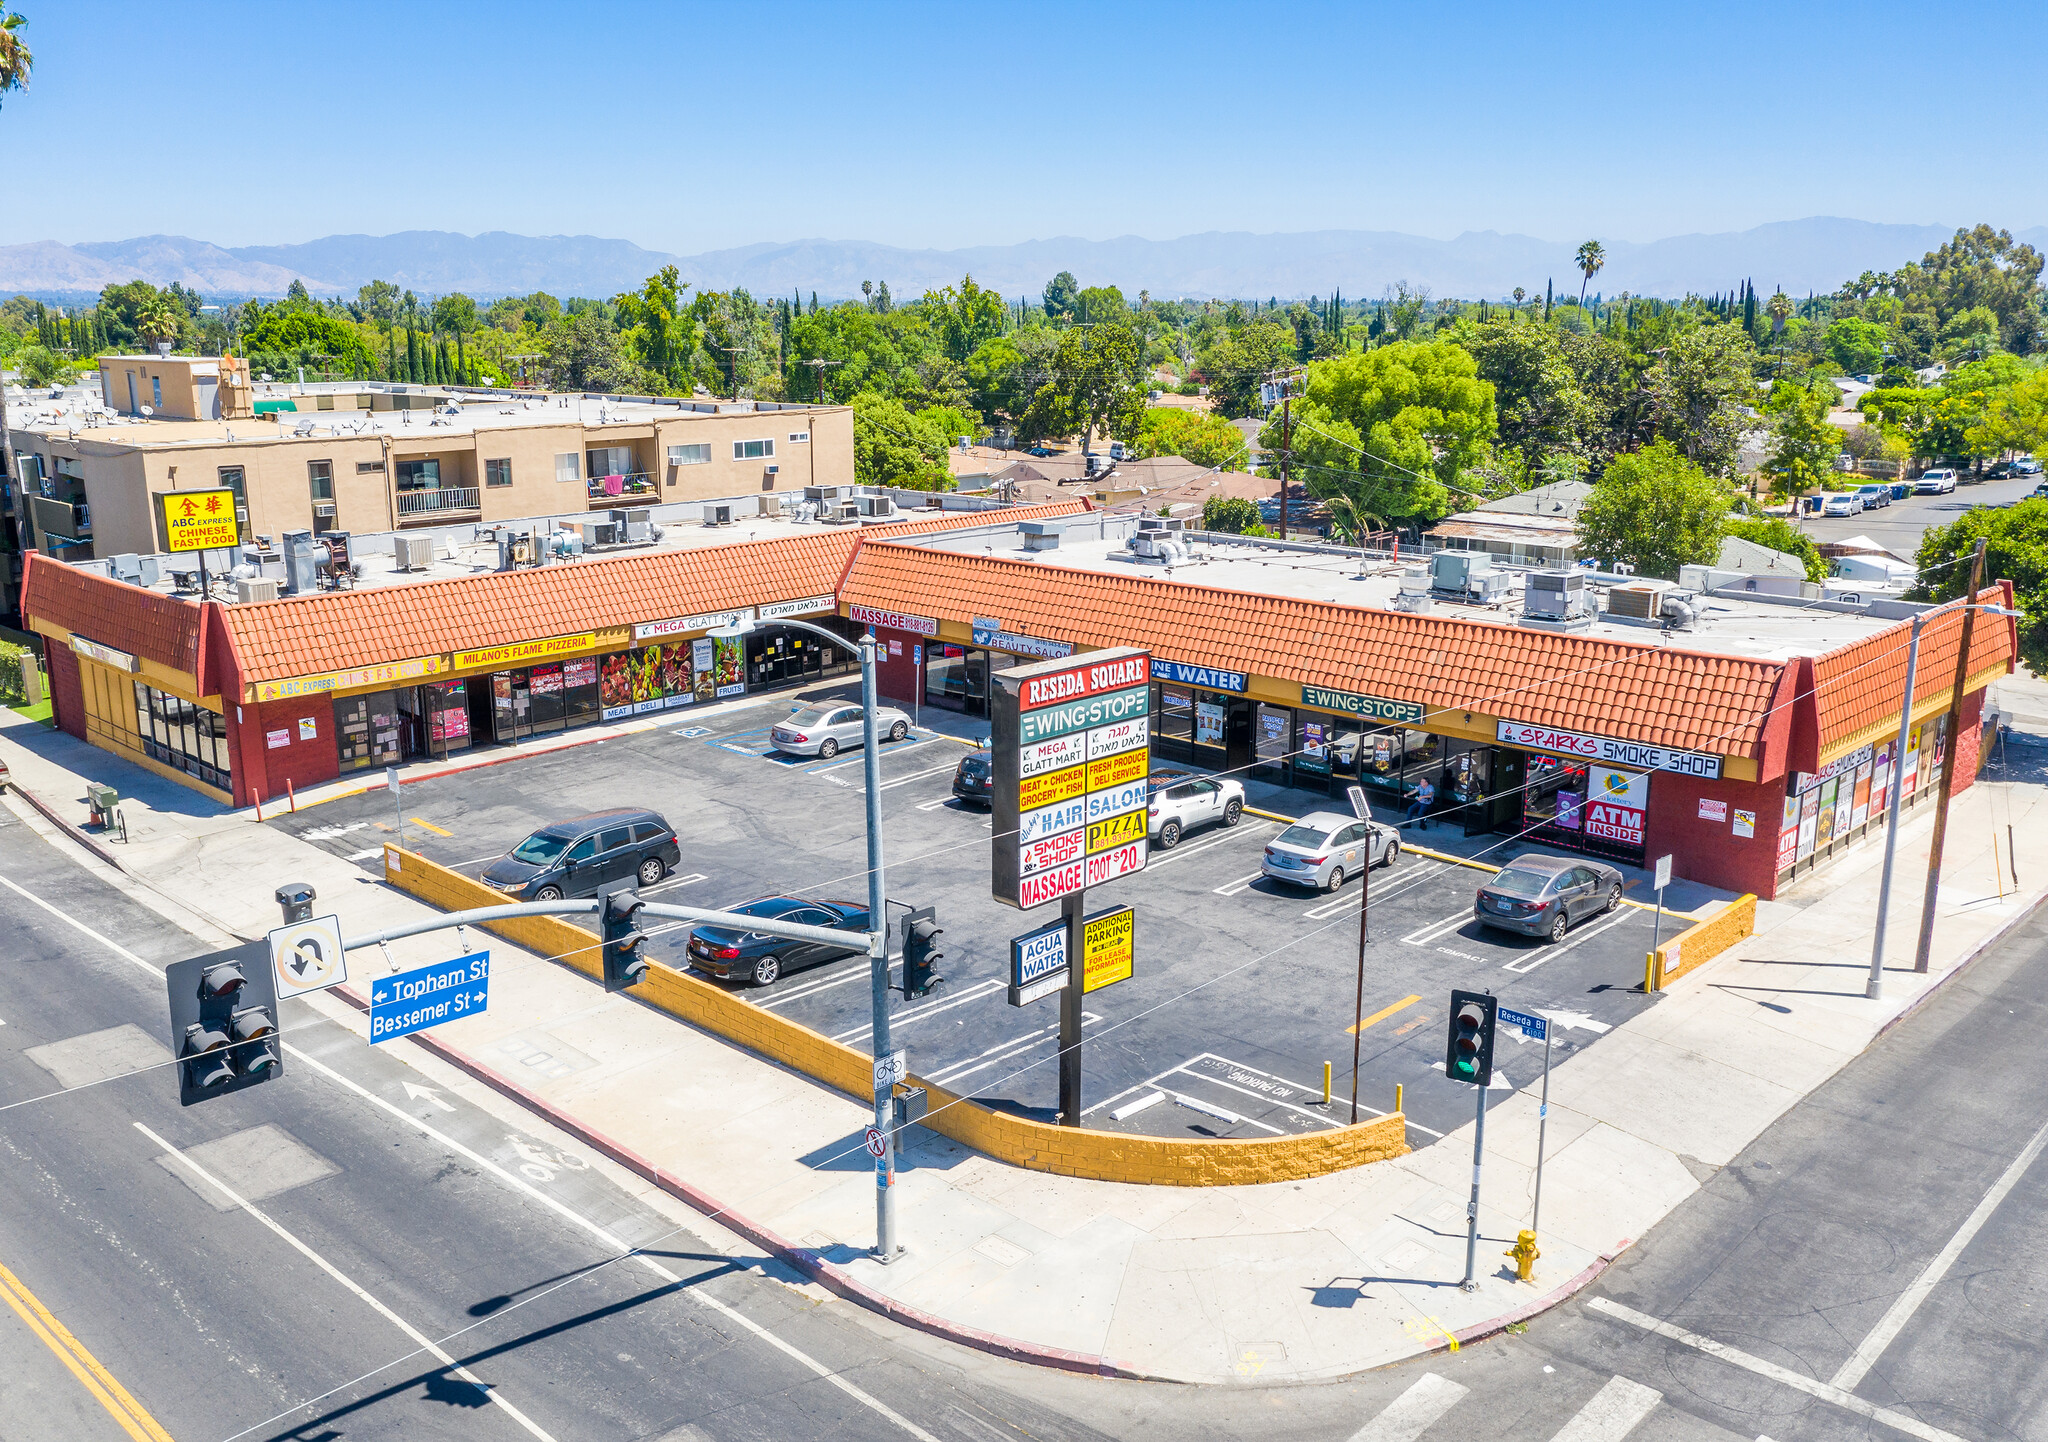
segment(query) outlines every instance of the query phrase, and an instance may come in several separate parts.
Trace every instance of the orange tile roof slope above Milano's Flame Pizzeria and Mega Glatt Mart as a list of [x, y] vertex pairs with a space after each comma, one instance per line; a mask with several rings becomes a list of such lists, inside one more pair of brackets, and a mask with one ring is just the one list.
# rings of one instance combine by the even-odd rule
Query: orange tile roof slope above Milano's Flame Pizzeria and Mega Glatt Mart
[[[997, 512], [1004, 524], [1065, 516], [1079, 502]], [[924, 535], [987, 524], [981, 512], [946, 512], [889, 526]], [[641, 551], [573, 565], [489, 571], [414, 586], [295, 596], [227, 606], [223, 621], [244, 682], [317, 676], [414, 655], [539, 641], [637, 621], [662, 621], [772, 600], [825, 596], [872, 526], [688, 551]]]

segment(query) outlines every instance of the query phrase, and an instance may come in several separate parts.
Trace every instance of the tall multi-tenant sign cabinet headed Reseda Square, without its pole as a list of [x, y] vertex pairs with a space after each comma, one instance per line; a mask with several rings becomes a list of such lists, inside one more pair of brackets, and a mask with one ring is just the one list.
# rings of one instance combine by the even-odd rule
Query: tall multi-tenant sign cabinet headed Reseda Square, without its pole
[[1032, 909], [1145, 871], [1151, 655], [995, 672], [989, 887]]

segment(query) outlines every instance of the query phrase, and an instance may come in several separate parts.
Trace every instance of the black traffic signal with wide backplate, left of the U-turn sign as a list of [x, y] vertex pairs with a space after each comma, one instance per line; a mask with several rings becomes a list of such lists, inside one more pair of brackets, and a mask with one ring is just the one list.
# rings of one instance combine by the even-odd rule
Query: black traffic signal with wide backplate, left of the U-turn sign
[[170, 993], [170, 1049], [178, 1055], [180, 1104], [285, 1073], [268, 942], [174, 961], [164, 971], [164, 987]]

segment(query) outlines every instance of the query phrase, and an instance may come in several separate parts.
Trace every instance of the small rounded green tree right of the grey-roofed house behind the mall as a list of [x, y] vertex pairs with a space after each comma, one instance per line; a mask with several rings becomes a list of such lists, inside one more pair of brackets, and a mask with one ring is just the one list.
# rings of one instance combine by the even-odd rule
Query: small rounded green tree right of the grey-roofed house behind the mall
[[1675, 580], [1679, 565], [1712, 565], [1733, 500], [1726, 481], [1659, 440], [1616, 457], [1593, 481], [1579, 506], [1579, 549]]

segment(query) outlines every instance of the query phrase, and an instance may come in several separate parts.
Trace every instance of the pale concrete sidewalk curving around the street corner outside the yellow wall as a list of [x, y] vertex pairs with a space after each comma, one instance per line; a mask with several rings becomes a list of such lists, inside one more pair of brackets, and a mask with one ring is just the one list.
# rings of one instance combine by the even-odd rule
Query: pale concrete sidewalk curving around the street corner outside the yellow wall
[[[1501, 1069], [1522, 1090], [1489, 1112], [1470, 1295], [1456, 1286], [1470, 1127], [1315, 1182], [1200, 1190], [1024, 1172], [920, 1131], [899, 1192], [909, 1254], [883, 1268], [864, 1256], [874, 1227], [864, 1104], [475, 932], [471, 946], [494, 950], [492, 1010], [440, 1026], [434, 1041], [563, 1125], [678, 1178], [696, 1204], [729, 1208], [725, 1225], [756, 1241], [750, 1256], [784, 1239], [803, 1249], [803, 1270], [866, 1305], [913, 1309], [932, 1329], [993, 1333], [1024, 1356], [1141, 1376], [1339, 1376], [1448, 1335], [1483, 1335], [1589, 1280], [2023, 916], [2044, 891], [2034, 858], [2048, 850], [2048, 787], [2036, 748], [2015, 756], [2028, 752], [2034, 760], [2009, 772], [2028, 780], [1999, 782], [1987, 768], [1956, 801], [1931, 975], [1909, 969], [1929, 809], [1898, 842], [1882, 1002], [1864, 1000], [1882, 864], [1874, 836], [1790, 899], [1763, 903], [1755, 938], [1554, 1069], [1534, 1286], [1513, 1282], [1501, 1256], [1528, 1223], [1536, 1153], [1534, 1053], [1507, 1034]], [[272, 889], [287, 881], [311, 883], [315, 909], [332, 905], [352, 934], [428, 914], [319, 848], [61, 733], [6, 725], [0, 756], [72, 821], [84, 815], [86, 776], [117, 784], [131, 840], [106, 850], [238, 934], [276, 924]], [[2007, 879], [2001, 897], [1993, 836], [2003, 866], [2007, 825], [2025, 891]], [[453, 948], [446, 934], [426, 936], [393, 944], [391, 959], [420, 965]], [[358, 979], [377, 965], [375, 950], [350, 957]]]

